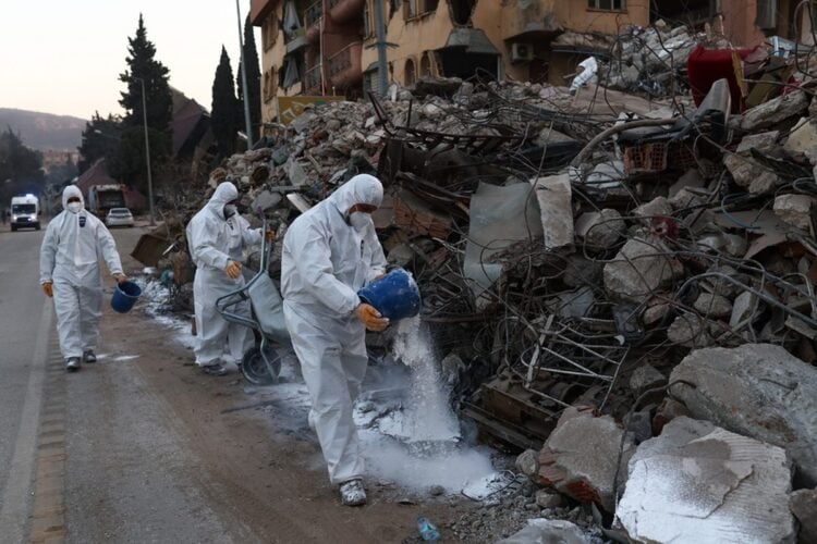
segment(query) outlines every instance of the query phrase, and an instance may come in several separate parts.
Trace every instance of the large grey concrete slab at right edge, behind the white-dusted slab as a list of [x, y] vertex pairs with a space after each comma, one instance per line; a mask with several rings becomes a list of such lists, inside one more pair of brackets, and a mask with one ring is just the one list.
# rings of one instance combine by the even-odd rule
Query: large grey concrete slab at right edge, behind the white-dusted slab
[[817, 369], [780, 346], [691, 353], [672, 371], [673, 396], [696, 418], [783, 447], [817, 484]]

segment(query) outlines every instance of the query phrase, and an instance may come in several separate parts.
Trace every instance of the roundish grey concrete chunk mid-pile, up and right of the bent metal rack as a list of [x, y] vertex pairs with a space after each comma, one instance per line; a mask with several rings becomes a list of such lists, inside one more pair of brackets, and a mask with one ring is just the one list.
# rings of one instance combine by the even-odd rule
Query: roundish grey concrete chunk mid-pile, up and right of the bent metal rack
[[683, 265], [661, 239], [636, 236], [605, 264], [605, 288], [612, 297], [644, 301], [683, 273]]

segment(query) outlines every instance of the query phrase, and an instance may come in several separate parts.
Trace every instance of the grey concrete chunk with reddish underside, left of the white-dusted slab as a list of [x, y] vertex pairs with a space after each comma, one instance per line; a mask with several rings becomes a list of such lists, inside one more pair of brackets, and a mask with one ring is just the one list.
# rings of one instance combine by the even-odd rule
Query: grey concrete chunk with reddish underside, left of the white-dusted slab
[[[612, 511], [615, 474], [624, 474], [617, 465], [623, 434], [610, 416], [596, 417], [590, 408], [568, 408], [539, 452], [538, 482]], [[625, 442], [622, 467], [632, 452], [632, 442]]]

